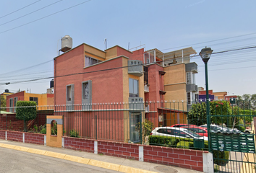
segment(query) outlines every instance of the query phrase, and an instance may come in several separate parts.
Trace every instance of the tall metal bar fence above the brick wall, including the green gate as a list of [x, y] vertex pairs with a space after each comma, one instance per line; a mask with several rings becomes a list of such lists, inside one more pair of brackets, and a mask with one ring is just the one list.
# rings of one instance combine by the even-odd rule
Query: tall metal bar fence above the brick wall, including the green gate
[[[17, 108], [1, 108], [0, 129], [25, 130], [24, 120], [15, 118]], [[210, 115], [206, 115], [205, 102], [54, 105], [36, 107], [36, 118], [27, 122], [27, 130], [45, 132], [46, 115], [63, 115], [64, 136], [210, 149], [217, 172], [253, 172], [254, 108], [252, 102], [246, 100], [210, 102]]]

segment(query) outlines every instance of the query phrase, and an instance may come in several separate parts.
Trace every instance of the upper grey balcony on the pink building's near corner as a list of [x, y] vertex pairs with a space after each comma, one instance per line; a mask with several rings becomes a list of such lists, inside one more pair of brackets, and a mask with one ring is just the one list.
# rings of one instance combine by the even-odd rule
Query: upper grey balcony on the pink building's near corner
[[143, 75], [142, 61], [128, 60], [128, 74], [132, 74], [138, 77], [142, 76]]

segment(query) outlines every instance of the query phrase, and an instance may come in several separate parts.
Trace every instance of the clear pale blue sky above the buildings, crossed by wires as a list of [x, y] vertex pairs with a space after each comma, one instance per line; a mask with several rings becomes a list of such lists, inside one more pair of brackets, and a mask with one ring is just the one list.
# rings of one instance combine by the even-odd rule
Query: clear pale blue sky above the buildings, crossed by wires
[[[46, 93], [61, 37], [69, 35], [73, 48], [86, 43], [104, 50], [105, 39], [108, 48], [144, 45], [166, 53], [192, 47], [202, 87], [205, 66], [198, 53], [207, 46], [216, 53], [208, 61], [209, 89], [255, 94], [256, 48], [249, 48], [256, 46], [255, 6], [253, 0], [2, 1], [0, 93]], [[232, 51], [220, 53], [226, 50]]]

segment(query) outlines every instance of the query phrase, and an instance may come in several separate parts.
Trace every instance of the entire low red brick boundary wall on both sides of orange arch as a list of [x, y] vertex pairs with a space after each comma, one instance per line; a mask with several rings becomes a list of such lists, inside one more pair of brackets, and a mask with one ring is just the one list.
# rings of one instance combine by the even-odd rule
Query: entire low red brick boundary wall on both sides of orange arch
[[[5, 139], [5, 133], [6, 130], [0, 130], [1, 139]], [[7, 130], [7, 140], [22, 142], [23, 133], [24, 132]], [[44, 144], [45, 135], [43, 134], [24, 133], [24, 137], [25, 143]], [[208, 151], [169, 148], [163, 146], [146, 146], [136, 143], [101, 141], [67, 136], [62, 136], [62, 142], [64, 142], [62, 144], [64, 148], [67, 149], [182, 167], [200, 172], [204, 171], [203, 154], [208, 154]]]

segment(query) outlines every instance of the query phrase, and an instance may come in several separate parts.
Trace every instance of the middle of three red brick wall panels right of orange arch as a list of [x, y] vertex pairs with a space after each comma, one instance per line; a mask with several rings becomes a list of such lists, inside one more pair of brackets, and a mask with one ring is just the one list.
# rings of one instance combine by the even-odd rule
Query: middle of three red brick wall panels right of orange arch
[[139, 160], [139, 145], [111, 141], [98, 141], [98, 153], [108, 156]]

